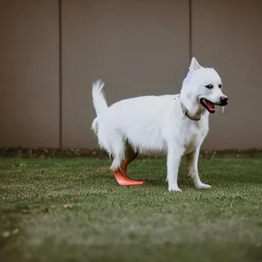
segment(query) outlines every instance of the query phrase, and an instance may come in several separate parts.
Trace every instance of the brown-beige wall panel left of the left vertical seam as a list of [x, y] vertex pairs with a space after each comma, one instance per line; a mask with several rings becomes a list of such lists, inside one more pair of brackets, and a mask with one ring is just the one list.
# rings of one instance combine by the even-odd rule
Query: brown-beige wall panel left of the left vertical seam
[[0, 145], [58, 146], [58, 2], [0, 1]]

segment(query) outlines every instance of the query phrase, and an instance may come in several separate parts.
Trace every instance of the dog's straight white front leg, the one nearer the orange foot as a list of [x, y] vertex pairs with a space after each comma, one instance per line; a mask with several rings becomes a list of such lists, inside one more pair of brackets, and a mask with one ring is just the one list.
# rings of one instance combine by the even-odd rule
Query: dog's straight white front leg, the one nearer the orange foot
[[182, 153], [178, 148], [168, 148], [167, 154], [167, 180], [169, 191], [181, 191], [178, 187], [178, 169]]

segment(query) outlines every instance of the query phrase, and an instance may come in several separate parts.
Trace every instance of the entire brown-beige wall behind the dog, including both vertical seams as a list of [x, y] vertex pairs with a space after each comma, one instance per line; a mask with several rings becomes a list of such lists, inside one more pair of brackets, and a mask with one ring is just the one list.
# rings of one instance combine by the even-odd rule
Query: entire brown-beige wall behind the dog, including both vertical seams
[[0, 0], [0, 146], [98, 147], [92, 82], [108, 104], [176, 94], [192, 56], [229, 97], [202, 149], [262, 147], [259, 0]]

